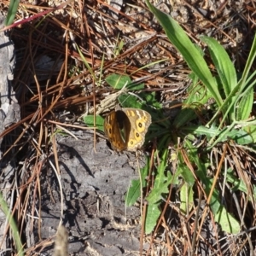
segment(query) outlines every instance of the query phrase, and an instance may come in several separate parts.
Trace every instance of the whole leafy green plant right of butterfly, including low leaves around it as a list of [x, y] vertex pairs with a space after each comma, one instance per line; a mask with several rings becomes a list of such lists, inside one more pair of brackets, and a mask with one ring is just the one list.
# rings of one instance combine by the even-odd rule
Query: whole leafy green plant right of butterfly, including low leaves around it
[[[126, 75], [113, 74], [106, 79], [107, 83], [111, 85], [113, 89], [127, 89], [127, 91], [118, 97], [122, 107], [144, 108], [152, 115], [153, 124], [150, 126], [147, 140], [153, 141], [154, 138], [157, 138], [157, 151], [154, 154], [154, 161], [158, 159], [160, 160], [160, 164], [155, 162], [154, 184], [150, 191], [148, 191], [146, 197], [148, 208], [145, 219], [145, 232], [148, 234], [154, 230], [154, 226], [161, 213], [161, 197], [167, 195], [170, 185], [174, 186], [178, 184], [179, 178], [182, 178], [184, 181], [180, 193], [182, 200], [181, 210], [185, 212], [186, 209], [191, 207], [194, 196], [192, 188], [195, 185], [195, 178], [191, 175], [191, 169], [183, 162], [183, 155], [180, 153], [177, 154], [177, 172], [172, 175], [170, 170], [168, 170], [168, 145], [171, 142], [176, 143], [177, 136], [180, 136], [183, 138], [183, 147], [189, 151], [188, 158], [191, 164], [197, 166], [195, 175], [206, 188], [205, 192], [209, 195], [208, 202], [215, 220], [222, 226], [223, 230], [230, 233], [237, 233], [239, 231], [239, 224], [221, 204], [219, 200], [220, 193], [218, 189], [215, 189], [216, 179], [218, 177], [215, 177], [214, 180], [207, 177], [206, 166], [209, 165], [209, 163], [206, 160], [204, 165], [201, 164], [198, 158], [198, 148], [195, 148], [195, 146], [190, 143], [189, 138], [192, 137], [192, 135], [205, 136], [208, 142], [206, 152], [217, 143], [226, 143], [230, 140], [240, 145], [246, 145], [255, 141], [255, 121], [247, 120], [253, 104], [254, 85], [253, 82], [249, 84], [253, 79], [253, 75], [249, 78], [247, 78], [247, 75], [255, 58], [255, 40], [248, 58], [247, 67], [245, 68], [241, 80], [237, 82], [235, 67], [223, 47], [212, 38], [201, 37], [201, 40], [209, 46], [212, 61], [216, 65], [218, 76], [214, 77], [207, 67], [207, 63], [202, 56], [202, 51], [190, 42], [182, 28], [177, 25], [177, 22], [172, 20], [168, 15], [154, 9], [149, 3], [148, 6], [160, 20], [172, 44], [177, 47], [182, 53], [184, 60], [187, 61], [192, 70], [190, 79], [193, 83], [189, 87], [187, 100], [183, 102], [184, 108], [177, 115], [176, 119], [174, 119], [173, 124], [171, 124], [163, 115], [161, 105], [155, 100], [154, 93], [138, 93], [137, 96], [127, 93], [129, 90], [142, 90], [144, 87], [143, 84], [133, 84], [131, 79]], [[140, 101], [138, 101], [138, 97], [141, 98]], [[208, 121], [208, 124], [190, 124], [189, 122], [197, 118], [196, 112], [200, 109], [199, 107], [204, 106], [211, 98], [214, 99], [216, 105], [213, 105], [213, 116], [212, 119]], [[154, 108], [148, 108], [148, 105]], [[218, 123], [216, 119], [219, 113], [224, 117], [220, 123]], [[87, 116], [84, 118], [84, 121], [88, 123], [88, 120], [91, 118], [92, 117]], [[103, 119], [99, 121], [100, 127], [102, 127], [102, 123]], [[240, 128], [237, 129], [236, 125], [240, 125]], [[250, 133], [247, 131], [250, 131]], [[251, 150], [253, 150], [253, 148], [251, 148]], [[143, 187], [148, 185], [144, 180], [148, 172], [149, 164], [141, 170], [141, 181], [137, 180], [131, 183], [131, 188], [125, 198], [127, 205], [131, 205], [137, 201], [137, 198], [141, 194], [140, 182], [142, 182], [141, 185]], [[236, 177], [230, 177], [230, 174], [227, 177], [228, 180], [232, 179], [233, 182], [238, 182]], [[243, 182], [243, 184], [244, 185], [240, 185], [236, 189], [246, 189], [246, 183]], [[253, 189], [253, 191], [255, 190]], [[250, 196], [251, 200], [253, 200], [254, 196], [255, 195]], [[229, 224], [230, 220], [233, 225]]]

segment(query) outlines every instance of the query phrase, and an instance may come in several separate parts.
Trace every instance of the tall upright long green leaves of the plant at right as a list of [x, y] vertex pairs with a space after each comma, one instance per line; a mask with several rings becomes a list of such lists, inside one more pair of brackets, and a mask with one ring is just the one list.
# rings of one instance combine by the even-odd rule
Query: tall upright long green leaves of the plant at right
[[[213, 145], [219, 141], [224, 141], [224, 136], [231, 136], [230, 138], [236, 141], [237, 139], [246, 136], [247, 132], [243, 133], [242, 131], [252, 130], [249, 128], [242, 128], [242, 131], [240, 131], [241, 136], [234, 136], [237, 129], [234, 131], [232, 128], [238, 124], [242, 127], [249, 126], [250, 128], [253, 128], [254, 131], [255, 122], [254, 120], [248, 120], [248, 118], [253, 106], [253, 86], [255, 84], [253, 77], [255, 76], [255, 72], [249, 76], [249, 71], [255, 60], [256, 38], [253, 40], [247, 65], [242, 73], [241, 79], [237, 81], [235, 67], [232, 61], [230, 61], [230, 57], [224, 48], [218, 44], [215, 39], [201, 36], [201, 41], [208, 45], [212, 61], [215, 64], [218, 73], [218, 77], [215, 78], [212, 76], [209, 67], [207, 67], [207, 62], [201, 55], [201, 50], [192, 44], [189, 37], [183, 32], [183, 29], [177, 22], [173, 20], [171, 16], [155, 9], [148, 1], [147, 3], [148, 8], [160, 21], [161, 26], [163, 26], [167, 37], [183, 55], [184, 60], [188, 63], [188, 66], [193, 72], [191, 79], [193, 79], [194, 83], [189, 88], [188, 99], [184, 102], [185, 108], [183, 108], [183, 111], [177, 115], [173, 125], [176, 128], [180, 128], [191, 121], [191, 119], [195, 119], [196, 115], [191, 115], [191, 113], [195, 113], [193, 108], [197, 108], [199, 103], [200, 105], [206, 104], [209, 98], [213, 98], [217, 103], [215, 114], [205, 127], [211, 129], [210, 125], [212, 125], [213, 122], [217, 123], [216, 118], [219, 113], [222, 113], [223, 119], [221, 123], [217, 124], [218, 129], [214, 131], [214, 135], [212, 136], [211, 134], [212, 139], [209, 140], [209, 145], [212, 146], [216, 137], [218, 137], [218, 139]], [[195, 83], [198, 81], [200, 84], [195, 88]], [[219, 81], [219, 84], [217, 81]], [[227, 125], [230, 125], [231, 128], [228, 128]], [[230, 132], [230, 134], [227, 134], [226, 132]], [[244, 143], [255, 142], [255, 133], [250, 132], [249, 136], [251, 139], [247, 137], [248, 139], [244, 141]]]

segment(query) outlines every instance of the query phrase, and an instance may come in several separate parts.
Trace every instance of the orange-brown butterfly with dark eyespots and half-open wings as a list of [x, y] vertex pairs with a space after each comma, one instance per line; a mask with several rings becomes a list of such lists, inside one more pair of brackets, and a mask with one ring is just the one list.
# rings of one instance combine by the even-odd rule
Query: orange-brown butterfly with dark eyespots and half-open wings
[[145, 141], [151, 116], [137, 108], [120, 108], [108, 113], [104, 131], [112, 147], [117, 151], [136, 151]]

